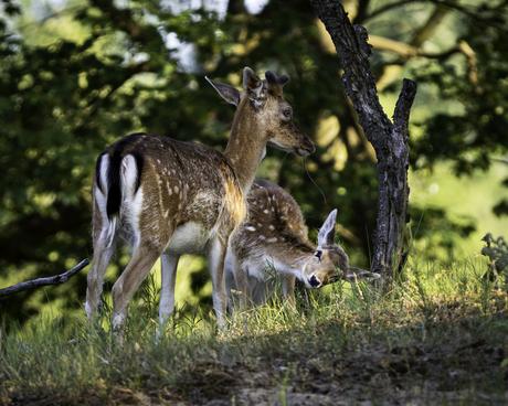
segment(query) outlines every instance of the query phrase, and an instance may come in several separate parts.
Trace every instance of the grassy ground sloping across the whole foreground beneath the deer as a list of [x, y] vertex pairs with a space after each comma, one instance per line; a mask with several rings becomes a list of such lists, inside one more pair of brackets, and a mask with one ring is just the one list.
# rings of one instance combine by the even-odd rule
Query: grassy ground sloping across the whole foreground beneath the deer
[[157, 286], [148, 280], [116, 344], [84, 312], [4, 318], [2, 404], [502, 405], [508, 376], [508, 298], [477, 264], [413, 258], [382, 295], [336, 284], [278, 297], [218, 332], [186, 304], [157, 342]]

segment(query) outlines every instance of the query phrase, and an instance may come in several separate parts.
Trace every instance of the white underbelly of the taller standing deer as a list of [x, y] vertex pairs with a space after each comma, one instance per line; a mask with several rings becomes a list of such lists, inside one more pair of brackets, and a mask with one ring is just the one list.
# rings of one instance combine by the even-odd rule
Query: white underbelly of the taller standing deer
[[203, 253], [213, 231], [205, 229], [197, 223], [186, 223], [177, 228], [165, 248], [165, 253], [198, 254]]

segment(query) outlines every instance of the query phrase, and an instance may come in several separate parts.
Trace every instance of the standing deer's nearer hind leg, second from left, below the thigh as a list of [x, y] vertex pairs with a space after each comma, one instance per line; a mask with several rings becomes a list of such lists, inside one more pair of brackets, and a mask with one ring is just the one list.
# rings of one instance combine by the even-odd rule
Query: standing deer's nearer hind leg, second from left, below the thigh
[[150, 244], [138, 244], [129, 264], [113, 286], [113, 329], [119, 342], [125, 335], [127, 309], [134, 292], [150, 273], [160, 254]]

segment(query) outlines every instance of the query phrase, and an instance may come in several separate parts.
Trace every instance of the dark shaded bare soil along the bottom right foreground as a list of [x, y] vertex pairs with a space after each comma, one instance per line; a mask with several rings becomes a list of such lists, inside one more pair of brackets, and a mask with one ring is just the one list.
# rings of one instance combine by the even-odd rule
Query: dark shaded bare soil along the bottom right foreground
[[[293, 354], [295, 355], [295, 354]], [[268, 363], [203, 362], [177, 383], [186, 405], [506, 405], [505, 349], [366, 349]]]

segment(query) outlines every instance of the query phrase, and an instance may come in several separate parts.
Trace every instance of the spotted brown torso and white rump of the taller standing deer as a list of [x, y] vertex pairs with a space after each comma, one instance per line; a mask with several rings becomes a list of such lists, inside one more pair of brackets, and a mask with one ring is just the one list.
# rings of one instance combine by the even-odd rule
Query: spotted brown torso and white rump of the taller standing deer
[[[202, 145], [134, 133], [103, 152], [94, 180], [94, 186], [107, 194], [107, 217], [118, 217], [130, 237], [151, 235], [157, 249], [163, 249], [171, 232], [186, 223], [203, 231], [218, 227], [226, 238], [245, 214], [243, 192], [224, 156]], [[102, 221], [95, 226], [102, 228]], [[194, 246], [186, 249], [176, 238], [174, 249], [201, 250], [209, 237], [202, 234], [187, 242]]]

